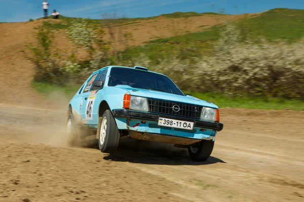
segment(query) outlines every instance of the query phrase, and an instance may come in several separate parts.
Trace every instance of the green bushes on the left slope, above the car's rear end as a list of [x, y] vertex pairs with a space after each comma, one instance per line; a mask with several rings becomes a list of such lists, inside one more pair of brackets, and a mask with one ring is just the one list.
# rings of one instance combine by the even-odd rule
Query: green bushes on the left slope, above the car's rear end
[[85, 47], [90, 57], [86, 61], [77, 58], [77, 48], [71, 53], [52, 46], [53, 32], [47, 24], [37, 28], [37, 44], [29, 44], [31, 56], [26, 58], [35, 66], [34, 81], [48, 83], [79, 83], [103, 66], [109, 65], [108, 46], [102, 40], [102, 27], [97, 27], [90, 20], [77, 19], [68, 26], [71, 42]]

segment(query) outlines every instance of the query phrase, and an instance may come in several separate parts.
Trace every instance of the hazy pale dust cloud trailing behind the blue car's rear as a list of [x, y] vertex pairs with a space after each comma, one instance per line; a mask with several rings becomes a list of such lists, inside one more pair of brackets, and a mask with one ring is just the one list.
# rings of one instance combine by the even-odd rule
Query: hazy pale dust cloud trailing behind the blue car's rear
[[0, 134], [11, 142], [69, 146], [66, 138], [66, 112], [69, 99], [61, 92], [49, 96], [52, 104], [41, 107], [0, 106]]

